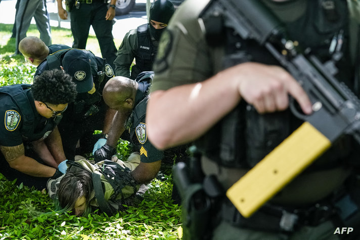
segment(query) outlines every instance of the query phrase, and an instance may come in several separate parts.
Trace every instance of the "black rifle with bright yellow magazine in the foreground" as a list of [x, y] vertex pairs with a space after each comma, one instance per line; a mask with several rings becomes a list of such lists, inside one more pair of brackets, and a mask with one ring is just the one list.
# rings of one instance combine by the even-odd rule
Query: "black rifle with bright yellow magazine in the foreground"
[[250, 217], [269, 198], [300, 174], [344, 134], [360, 143], [360, 101], [334, 77], [333, 60], [322, 63], [316, 56], [299, 52], [296, 42], [261, 1], [219, 0], [209, 5], [214, 18], [235, 30], [243, 39], [264, 46], [302, 86], [313, 113], [290, 109], [304, 123], [227, 191], [244, 217]]

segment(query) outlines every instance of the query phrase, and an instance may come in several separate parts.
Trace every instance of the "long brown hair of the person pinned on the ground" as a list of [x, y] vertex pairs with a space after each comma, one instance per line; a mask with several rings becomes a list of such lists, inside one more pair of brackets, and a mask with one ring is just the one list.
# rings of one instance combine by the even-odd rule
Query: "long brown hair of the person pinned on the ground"
[[91, 173], [86, 169], [76, 166], [71, 166], [65, 176], [61, 179], [59, 189], [57, 192], [59, 208], [63, 211], [73, 210], [78, 198], [84, 196], [86, 199], [87, 208], [82, 215], [91, 212], [90, 194], [93, 187], [93, 180]]

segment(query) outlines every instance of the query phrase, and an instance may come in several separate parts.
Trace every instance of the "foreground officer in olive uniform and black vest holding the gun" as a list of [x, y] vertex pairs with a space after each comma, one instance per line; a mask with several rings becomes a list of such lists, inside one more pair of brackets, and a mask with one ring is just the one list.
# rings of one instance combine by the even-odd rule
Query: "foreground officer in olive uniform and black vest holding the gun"
[[[219, 2], [186, 1], [162, 34], [147, 125], [149, 140], [159, 149], [196, 140], [204, 174], [215, 175], [226, 190], [301, 124], [288, 109], [288, 95], [304, 114], [312, 109], [304, 90], [267, 49], [223, 25], [227, 13], [212, 8]], [[243, 6], [242, 1], [232, 2], [239, 9]], [[352, 18], [359, 9], [357, 2], [262, 0], [260, 4], [285, 24], [290, 39], [311, 49], [321, 61], [332, 62], [339, 70], [336, 76], [350, 88], [358, 86], [354, 83], [358, 53], [350, 50], [358, 44], [358, 19]], [[345, 139], [253, 217], [242, 217], [224, 195], [209, 208], [214, 211], [208, 212], [209, 221], [191, 212], [183, 218], [184, 239], [339, 239], [334, 232], [342, 225], [355, 226], [348, 237], [357, 239], [360, 188], [351, 182], [354, 166], [348, 163], [356, 154]], [[339, 200], [344, 196], [347, 204]], [[195, 210], [204, 206], [209, 207], [204, 202], [193, 205]], [[338, 214], [344, 212], [351, 212], [351, 217]], [[200, 229], [212, 231], [196, 232]]]

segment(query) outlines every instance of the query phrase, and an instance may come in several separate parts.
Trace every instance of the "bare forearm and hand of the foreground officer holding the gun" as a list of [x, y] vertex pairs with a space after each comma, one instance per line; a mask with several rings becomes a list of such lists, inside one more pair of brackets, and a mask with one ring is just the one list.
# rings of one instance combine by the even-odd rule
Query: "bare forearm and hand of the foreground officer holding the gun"
[[282, 111], [289, 95], [304, 113], [311, 102], [299, 83], [279, 66], [242, 63], [192, 85], [151, 94], [147, 108], [148, 137], [164, 149], [197, 139], [241, 99], [260, 113]]

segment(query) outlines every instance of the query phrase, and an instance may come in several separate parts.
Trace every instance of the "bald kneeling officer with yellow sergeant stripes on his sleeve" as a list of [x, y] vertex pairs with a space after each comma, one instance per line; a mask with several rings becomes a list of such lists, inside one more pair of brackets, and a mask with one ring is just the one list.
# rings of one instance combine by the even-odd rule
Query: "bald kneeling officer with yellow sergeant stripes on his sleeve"
[[116, 153], [114, 146], [117, 139], [126, 129], [129, 131], [131, 143], [135, 145], [133, 149], [140, 152], [141, 156], [140, 165], [131, 173], [138, 183], [147, 183], [155, 178], [163, 157], [163, 151], [157, 150], [147, 140], [145, 124], [146, 105], [153, 76], [153, 72], [142, 72], [136, 81], [121, 76], [108, 81], [103, 91], [104, 101], [117, 112], [107, 143], [94, 154], [95, 162], [110, 159]]

